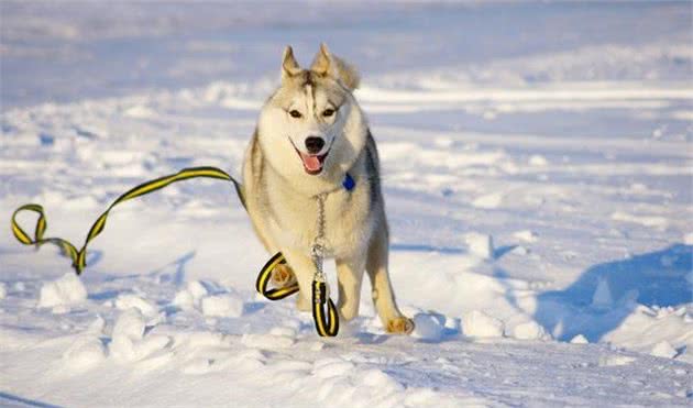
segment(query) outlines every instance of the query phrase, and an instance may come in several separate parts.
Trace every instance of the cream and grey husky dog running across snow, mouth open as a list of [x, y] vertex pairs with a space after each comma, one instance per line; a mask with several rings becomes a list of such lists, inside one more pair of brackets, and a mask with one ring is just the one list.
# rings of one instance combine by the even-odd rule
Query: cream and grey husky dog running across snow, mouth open
[[316, 267], [310, 256], [318, 234], [316, 197], [326, 195], [324, 238], [337, 263], [341, 318], [359, 313], [367, 271], [383, 326], [391, 333], [409, 333], [414, 322], [397, 308], [387, 272], [378, 155], [352, 93], [359, 80], [355, 69], [324, 44], [309, 69], [298, 66], [287, 46], [282, 85], [262, 108], [245, 153], [243, 196], [267, 251], [280, 251], [288, 263], [275, 268], [272, 280], [277, 286], [298, 282], [297, 306], [307, 311]]

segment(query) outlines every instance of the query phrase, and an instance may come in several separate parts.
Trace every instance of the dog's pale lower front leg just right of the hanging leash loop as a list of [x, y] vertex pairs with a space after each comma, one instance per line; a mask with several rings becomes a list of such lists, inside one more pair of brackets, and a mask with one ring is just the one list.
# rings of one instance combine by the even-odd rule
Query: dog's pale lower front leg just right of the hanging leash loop
[[361, 302], [361, 283], [365, 271], [363, 256], [337, 260], [337, 279], [339, 283], [339, 300], [337, 308], [344, 320], [359, 315]]

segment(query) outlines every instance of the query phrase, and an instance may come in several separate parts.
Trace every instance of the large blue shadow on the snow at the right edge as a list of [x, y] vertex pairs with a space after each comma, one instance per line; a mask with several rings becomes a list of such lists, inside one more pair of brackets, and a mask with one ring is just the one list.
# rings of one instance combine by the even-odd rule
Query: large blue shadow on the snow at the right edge
[[586, 269], [564, 290], [537, 297], [535, 319], [557, 340], [576, 334], [600, 341], [618, 328], [637, 305], [676, 307], [693, 301], [693, 246], [606, 262]]

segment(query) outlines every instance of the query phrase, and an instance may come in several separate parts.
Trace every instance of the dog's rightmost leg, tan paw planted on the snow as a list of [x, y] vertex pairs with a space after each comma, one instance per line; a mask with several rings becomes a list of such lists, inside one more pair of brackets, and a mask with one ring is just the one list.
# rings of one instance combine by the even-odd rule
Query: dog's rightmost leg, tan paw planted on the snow
[[414, 330], [414, 321], [405, 317], [397, 308], [395, 294], [389, 282], [389, 273], [387, 272], [387, 228], [382, 225], [372, 238], [366, 260], [373, 304], [387, 332], [408, 334]]

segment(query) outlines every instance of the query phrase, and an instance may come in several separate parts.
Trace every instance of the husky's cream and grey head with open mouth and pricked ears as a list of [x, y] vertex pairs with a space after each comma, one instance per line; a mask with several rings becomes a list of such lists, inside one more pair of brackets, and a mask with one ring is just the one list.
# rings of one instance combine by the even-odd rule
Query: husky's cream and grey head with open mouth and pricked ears
[[309, 69], [290, 46], [282, 58], [282, 85], [263, 107], [263, 153], [284, 176], [341, 179], [366, 141], [364, 115], [352, 91], [359, 74], [322, 44]]

